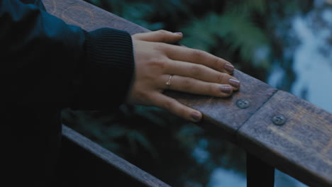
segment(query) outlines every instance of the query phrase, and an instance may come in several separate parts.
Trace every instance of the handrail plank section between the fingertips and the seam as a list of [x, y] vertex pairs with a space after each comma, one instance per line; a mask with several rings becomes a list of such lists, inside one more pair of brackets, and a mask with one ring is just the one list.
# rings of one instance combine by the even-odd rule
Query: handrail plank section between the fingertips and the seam
[[[238, 70], [233, 76], [241, 81], [241, 87], [230, 98], [197, 96], [175, 91], [168, 91], [166, 94], [201, 111], [204, 114], [204, 120], [199, 125], [206, 131], [235, 142], [236, 131], [277, 89]], [[249, 101], [248, 108], [239, 108], [236, 105], [236, 102], [241, 99]]]

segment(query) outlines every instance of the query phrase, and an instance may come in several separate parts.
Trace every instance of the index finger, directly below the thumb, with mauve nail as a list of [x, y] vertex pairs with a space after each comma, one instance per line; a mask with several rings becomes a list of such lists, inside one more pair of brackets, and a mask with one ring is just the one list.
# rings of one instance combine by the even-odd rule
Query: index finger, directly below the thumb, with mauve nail
[[172, 60], [202, 64], [212, 69], [216, 69], [218, 72], [228, 74], [233, 74], [234, 72], [234, 66], [230, 62], [211, 55], [209, 52], [177, 45], [166, 45], [165, 47], [167, 57]]

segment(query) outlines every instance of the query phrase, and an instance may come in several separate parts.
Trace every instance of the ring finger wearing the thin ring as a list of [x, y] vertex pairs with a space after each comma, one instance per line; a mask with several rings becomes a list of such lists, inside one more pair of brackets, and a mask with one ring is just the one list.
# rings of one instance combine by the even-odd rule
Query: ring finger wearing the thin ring
[[[167, 81], [170, 84], [166, 84], [165, 82]], [[233, 93], [233, 87], [228, 84], [216, 84], [178, 75], [173, 75], [172, 77], [163, 76], [160, 85], [160, 89], [172, 89], [204, 96], [228, 97]]]

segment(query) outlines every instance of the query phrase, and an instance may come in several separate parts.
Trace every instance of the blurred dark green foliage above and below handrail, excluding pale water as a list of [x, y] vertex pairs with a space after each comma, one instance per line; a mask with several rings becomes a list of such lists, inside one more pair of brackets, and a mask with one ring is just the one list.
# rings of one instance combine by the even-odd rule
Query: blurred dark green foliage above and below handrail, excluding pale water
[[[292, 16], [312, 0], [87, 0], [150, 30], [184, 33], [182, 45], [212, 53], [265, 81], [272, 63], [292, 71], [285, 46]], [[285, 80], [284, 89], [289, 88]], [[172, 186], [206, 186], [217, 166], [245, 174], [245, 154], [222, 137], [159, 108], [121, 106], [116, 111], [64, 111], [66, 125]], [[206, 159], [194, 152], [205, 152]], [[189, 183], [189, 184], [188, 184]]]

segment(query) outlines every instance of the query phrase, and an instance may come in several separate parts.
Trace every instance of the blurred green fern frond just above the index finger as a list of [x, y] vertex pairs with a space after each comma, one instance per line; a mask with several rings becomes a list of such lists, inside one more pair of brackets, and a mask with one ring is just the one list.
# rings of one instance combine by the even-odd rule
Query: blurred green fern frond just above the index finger
[[[234, 10], [221, 15], [209, 13], [182, 31], [186, 36], [182, 42], [188, 47], [210, 52], [212, 48], [228, 46], [228, 52], [238, 51], [245, 62], [252, 62], [255, 66], [268, 62], [267, 59], [255, 56], [259, 49], [270, 49], [270, 41], [264, 31], [250, 20], [249, 13]], [[221, 45], [218, 41], [224, 44]], [[265, 57], [268, 58], [269, 55], [270, 50], [267, 50]]]

